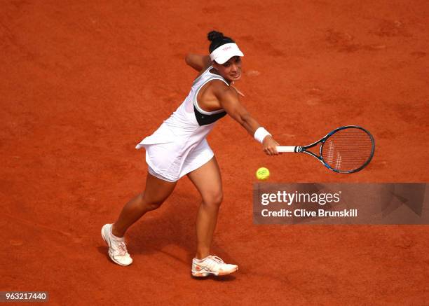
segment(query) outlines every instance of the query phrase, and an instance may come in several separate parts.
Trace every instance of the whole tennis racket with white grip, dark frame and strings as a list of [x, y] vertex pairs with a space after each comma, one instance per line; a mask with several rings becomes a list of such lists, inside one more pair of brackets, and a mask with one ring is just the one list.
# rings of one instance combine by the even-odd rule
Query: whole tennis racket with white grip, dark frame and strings
[[[319, 154], [308, 151], [320, 144]], [[339, 127], [308, 146], [278, 146], [278, 152], [307, 153], [317, 158], [328, 169], [338, 173], [362, 170], [372, 159], [375, 142], [363, 127]]]

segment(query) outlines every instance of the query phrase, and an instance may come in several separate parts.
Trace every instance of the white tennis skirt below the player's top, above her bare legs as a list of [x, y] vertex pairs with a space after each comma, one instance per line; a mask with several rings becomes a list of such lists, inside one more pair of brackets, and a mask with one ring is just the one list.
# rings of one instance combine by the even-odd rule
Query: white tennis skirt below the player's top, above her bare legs
[[149, 173], [170, 182], [178, 181], [182, 176], [205, 165], [214, 155], [206, 139], [189, 147], [181, 141], [163, 144], [144, 144], [142, 141], [137, 148], [142, 146], [146, 149]]

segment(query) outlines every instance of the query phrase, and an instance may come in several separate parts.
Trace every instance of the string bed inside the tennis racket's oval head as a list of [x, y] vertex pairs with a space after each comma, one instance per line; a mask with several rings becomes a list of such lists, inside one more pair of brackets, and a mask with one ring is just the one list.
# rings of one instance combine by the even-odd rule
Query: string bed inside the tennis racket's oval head
[[360, 129], [344, 129], [332, 134], [322, 146], [322, 158], [340, 171], [353, 171], [372, 157], [373, 142]]

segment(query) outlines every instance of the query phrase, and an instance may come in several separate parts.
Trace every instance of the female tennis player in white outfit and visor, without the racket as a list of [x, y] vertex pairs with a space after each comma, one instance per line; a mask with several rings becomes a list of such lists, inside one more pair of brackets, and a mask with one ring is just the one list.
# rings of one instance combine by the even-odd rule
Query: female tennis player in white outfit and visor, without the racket
[[172, 193], [177, 181], [187, 175], [203, 198], [196, 218], [197, 249], [192, 260], [194, 277], [225, 275], [238, 270], [210, 255], [217, 213], [222, 202], [222, 181], [207, 134], [226, 114], [259, 141], [268, 155], [277, 155], [278, 143], [246, 111], [231, 85], [241, 78], [241, 57], [236, 43], [220, 32], [207, 35], [210, 55], [186, 55], [186, 64], [200, 72], [189, 95], [170, 118], [136, 148], [146, 149], [149, 166], [146, 188], [125, 204], [114, 224], [102, 227], [109, 256], [118, 265], [130, 265], [124, 235], [148, 211], [157, 209]]

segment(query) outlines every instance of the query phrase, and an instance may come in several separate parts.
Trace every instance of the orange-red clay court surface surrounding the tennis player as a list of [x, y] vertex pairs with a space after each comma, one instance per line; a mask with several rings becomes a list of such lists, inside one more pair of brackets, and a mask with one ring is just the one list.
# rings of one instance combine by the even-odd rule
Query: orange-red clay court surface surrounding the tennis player
[[[426, 182], [428, 1], [1, 1], [0, 291], [52, 305], [429, 305], [425, 225], [254, 225], [271, 182]], [[135, 145], [182, 102], [212, 29], [245, 53], [243, 104], [282, 145], [362, 125], [376, 154], [341, 175], [269, 157], [231, 118], [209, 137], [224, 183], [213, 253], [192, 279], [200, 198], [187, 178], [130, 228], [134, 263], [100, 237], [144, 186]]]

